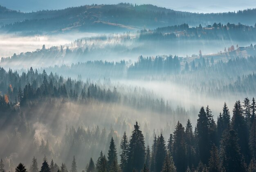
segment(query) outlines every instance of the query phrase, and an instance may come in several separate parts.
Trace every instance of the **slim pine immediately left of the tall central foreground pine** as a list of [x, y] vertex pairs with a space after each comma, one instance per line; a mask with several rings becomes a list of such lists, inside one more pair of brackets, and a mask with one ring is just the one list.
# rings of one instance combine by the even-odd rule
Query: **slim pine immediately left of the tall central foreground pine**
[[129, 143], [128, 143], [128, 137], [126, 135], [126, 132], [124, 132], [124, 135], [122, 137], [121, 140], [121, 169], [124, 171], [124, 169], [126, 168], [127, 165], [127, 161], [128, 161], [128, 148], [129, 148]]

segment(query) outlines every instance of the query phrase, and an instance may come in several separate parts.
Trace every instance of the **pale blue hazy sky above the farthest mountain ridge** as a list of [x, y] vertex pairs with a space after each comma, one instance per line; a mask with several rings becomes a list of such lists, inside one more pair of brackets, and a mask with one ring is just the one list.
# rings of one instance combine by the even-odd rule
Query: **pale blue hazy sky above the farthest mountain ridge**
[[0, 0], [0, 5], [20, 11], [36, 11], [41, 9], [62, 9], [84, 4], [117, 4], [131, 2], [133, 4], [154, 4], [181, 11], [191, 12], [223, 12], [239, 9], [255, 8], [255, 0]]

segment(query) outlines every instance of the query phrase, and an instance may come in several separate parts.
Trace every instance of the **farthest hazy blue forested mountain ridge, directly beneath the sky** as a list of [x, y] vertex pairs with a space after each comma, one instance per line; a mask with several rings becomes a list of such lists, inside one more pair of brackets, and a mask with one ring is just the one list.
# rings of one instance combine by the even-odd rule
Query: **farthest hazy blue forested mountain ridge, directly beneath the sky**
[[180, 25], [209, 25], [213, 22], [254, 25], [256, 9], [228, 13], [191, 13], [150, 4], [129, 3], [84, 5], [61, 10], [23, 13], [0, 7], [1, 31], [60, 33], [67, 31], [122, 31]]

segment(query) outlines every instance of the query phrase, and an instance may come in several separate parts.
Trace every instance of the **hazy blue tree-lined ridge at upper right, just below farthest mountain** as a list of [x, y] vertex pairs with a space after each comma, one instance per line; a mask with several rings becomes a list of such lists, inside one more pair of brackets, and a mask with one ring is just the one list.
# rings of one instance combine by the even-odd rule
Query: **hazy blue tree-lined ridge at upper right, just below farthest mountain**
[[[256, 26], [256, 25], [255, 25]], [[214, 23], [202, 27], [189, 27], [188, 24], [159, 27], [140, 31], [139, 40], [255, 40], [256, 27], [238, 23], [223, 25]]]

